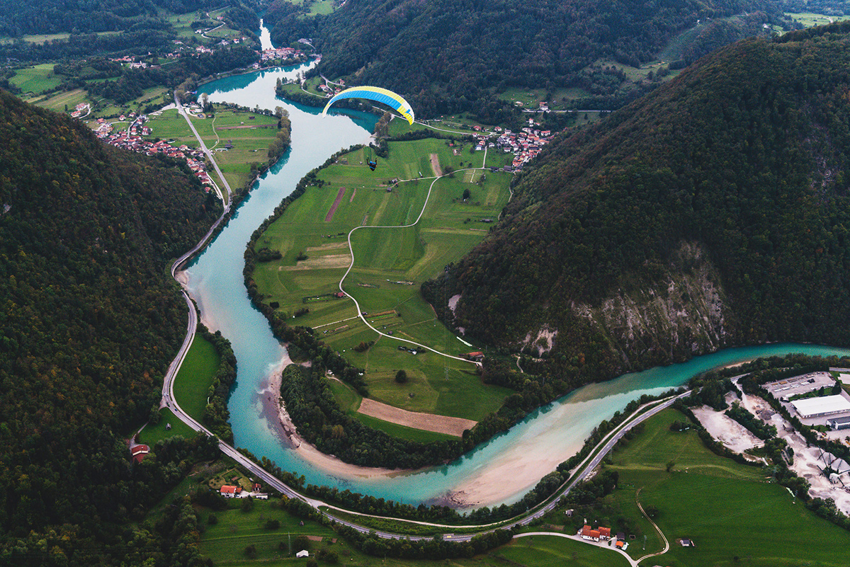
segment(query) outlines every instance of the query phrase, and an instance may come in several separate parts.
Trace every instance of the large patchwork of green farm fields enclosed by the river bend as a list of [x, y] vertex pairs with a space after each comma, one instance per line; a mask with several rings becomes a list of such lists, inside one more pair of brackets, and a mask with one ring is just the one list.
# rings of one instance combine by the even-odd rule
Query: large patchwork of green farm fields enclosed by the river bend
[[[467, 148], [433, 138], [391, 142], [389, 158], [378, 158], [374, 172], [364, 165], [371, 150], [344, 154], [318, 173], [323, 185], [309, 187], [258, 239], [258, 248], [279, 250], [282, 258], [258, 263], [253, 278], [264, 301], [274, 302], [287, 317], [309, 309], [298, 313], [297, 324], [314, 328], [365, 368], [375, 400], [412, 412], [479, 420], [501, 406], [507, 390], [484, 386], [468, 362], [421, 349], [416, 354], [399, 350], [404, 343], [379, 337], [356, 318], [354, 302], [334, 296], [351, 262], [346, 235], [354, 227], [376, 227], [352, 235], [356, 261], [344, 283], [370, 323], [393, 337], [451, 355], [478, 350], [439, 323], [419, 292], [423, 281], [484, 239], [507, 203], [510, 175], [461, 171], [484, 159], [483, 152], [471, 155]], [[395, 228], [415, 222], [422, 211], [434, 181], [433, 164], [455, 173], [433, 183], [419, 224]], [[470, 195], [463, 202], [466, 189]], [[371, 348], [353, 350], [372, 340]], [[409, 377], [403, 385], [394, 381], [401, 369]]]

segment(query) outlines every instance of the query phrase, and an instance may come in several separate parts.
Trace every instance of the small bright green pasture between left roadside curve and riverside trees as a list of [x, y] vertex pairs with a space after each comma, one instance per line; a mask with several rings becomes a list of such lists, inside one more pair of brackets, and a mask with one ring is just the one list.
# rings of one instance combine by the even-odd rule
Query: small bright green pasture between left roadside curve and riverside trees
[[212, 343], [200, 334], [195, 334], [195, 340], [174, 380], [174, 397], [180, 407], [198, 421], [204, 417], [207, 392], [219, 364], [221, 356]]

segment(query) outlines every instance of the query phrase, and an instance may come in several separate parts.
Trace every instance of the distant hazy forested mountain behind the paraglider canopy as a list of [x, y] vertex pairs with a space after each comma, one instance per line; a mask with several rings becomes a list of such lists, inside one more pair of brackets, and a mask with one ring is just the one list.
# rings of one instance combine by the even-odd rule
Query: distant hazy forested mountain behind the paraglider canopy
[[[581, 86], [598, 59], [638, 65], [700, 18], [767, 10], [770, 0], [348, 0], [304, 17], [276, 0], [272, 39], [310, 37], [319, 70], [405, 94], [420, 115], [488, 114], [490, 87]], [[619, 81], [618, 81], [619, 82]]]

